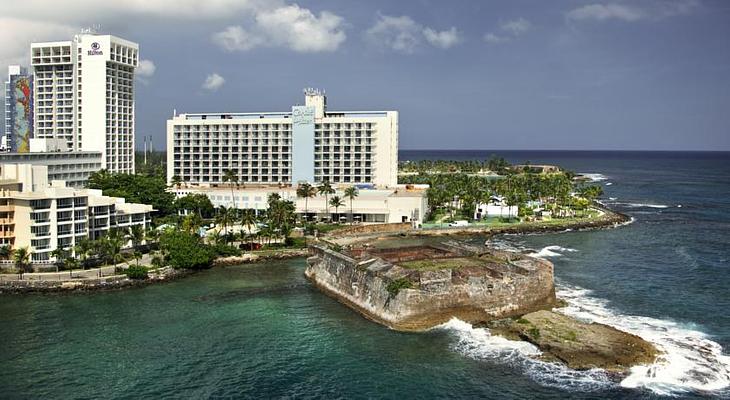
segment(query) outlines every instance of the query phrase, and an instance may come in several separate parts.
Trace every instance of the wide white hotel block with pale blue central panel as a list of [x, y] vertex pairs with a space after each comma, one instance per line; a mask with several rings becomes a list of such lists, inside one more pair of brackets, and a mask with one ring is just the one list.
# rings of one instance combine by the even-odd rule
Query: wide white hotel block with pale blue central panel
[[167, 179], [243, 184], [373, 184], [398, 180], [397, 111], [328, 111], [305, 90], [291, 112], [180, 114], [167, 121]]

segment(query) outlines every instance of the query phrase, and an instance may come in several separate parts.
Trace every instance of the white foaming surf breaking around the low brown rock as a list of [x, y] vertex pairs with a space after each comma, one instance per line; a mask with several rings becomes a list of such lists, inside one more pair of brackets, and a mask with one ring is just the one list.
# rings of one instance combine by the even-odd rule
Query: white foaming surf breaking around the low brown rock
[[515, 367], [545, 386], [577, 391], [621, 386], [644, 388], [664, 396], [690, 392], [730, 395], [730, 356], [724, 355], [722, 347], [706, 334], [670, 320], [617, 313], [606, 306], [605, 300], [590, 293], [574, 286], [558, 286], [558, 297], [568, 306], [557, 311], [586, 322], [610, 325], [653, 343], [662, 352], [654, 364], [633, 367], [617, 382], [615, 376], [601, 369], [576, 371], [542, 361], [537, 358], [540, 350], [532, 344], [493, 336], [487, 328], [474, 328], [456, 318], [434, 329], [455, 336], [456, 352]]

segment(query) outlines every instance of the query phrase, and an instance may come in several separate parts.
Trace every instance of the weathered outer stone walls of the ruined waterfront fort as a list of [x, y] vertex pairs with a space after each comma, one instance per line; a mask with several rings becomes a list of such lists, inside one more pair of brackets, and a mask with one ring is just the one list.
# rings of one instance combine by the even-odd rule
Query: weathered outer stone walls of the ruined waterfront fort
[[[382, 259], [358, 261], [321, 246], [310, 247], [305, 274], [321, 290], [398, 330], [423, 330], [452, 317], [489, 321], [551, 307], [555, 303], [550, 262], [523, 258], [500, 268], [413, 271]], [[415, 288], [388, 292], [398, 278]]]

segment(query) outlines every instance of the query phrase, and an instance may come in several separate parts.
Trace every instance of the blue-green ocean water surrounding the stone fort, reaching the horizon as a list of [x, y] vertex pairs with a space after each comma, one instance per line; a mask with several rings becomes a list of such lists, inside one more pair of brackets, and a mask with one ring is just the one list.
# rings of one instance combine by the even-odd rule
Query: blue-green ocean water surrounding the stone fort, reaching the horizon
[[131, 290], [0, 296], [0, 397], [730, 397], [730, 153], [400, 158], [491, 154], [590, 174], [603, 201], [633, 218], [616, 229], [490, 242], [550, 259], [566, 313], [655, 343], [656, 364], [616, 380], [536, 361], [531, 345], [458, 320], [394, 332], [318, 292], [295, 259]]

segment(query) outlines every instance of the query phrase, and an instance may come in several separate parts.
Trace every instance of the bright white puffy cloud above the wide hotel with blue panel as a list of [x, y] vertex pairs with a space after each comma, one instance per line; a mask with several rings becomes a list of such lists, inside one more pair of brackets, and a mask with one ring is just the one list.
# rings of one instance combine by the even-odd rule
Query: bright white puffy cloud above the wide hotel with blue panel
[[296, 4], [259, 12], [249, 30], [229, 26], [212, 37], [226, 51], [269, 46], [300, 53], [335, 51], [346, 38], [342, 17], [328, 11], [317, 16]]

